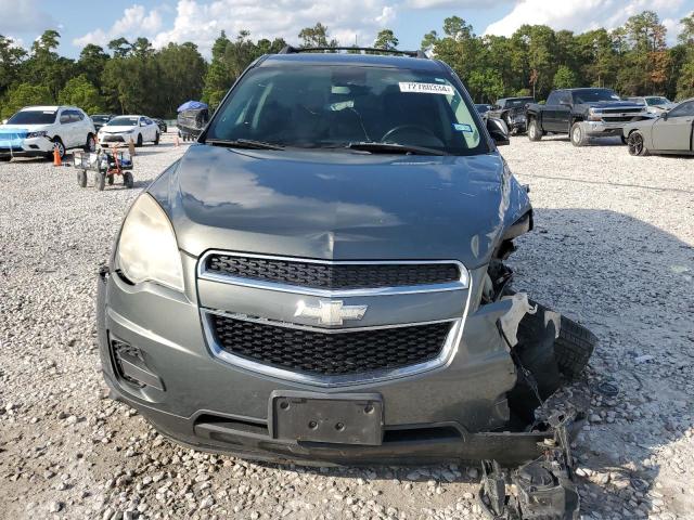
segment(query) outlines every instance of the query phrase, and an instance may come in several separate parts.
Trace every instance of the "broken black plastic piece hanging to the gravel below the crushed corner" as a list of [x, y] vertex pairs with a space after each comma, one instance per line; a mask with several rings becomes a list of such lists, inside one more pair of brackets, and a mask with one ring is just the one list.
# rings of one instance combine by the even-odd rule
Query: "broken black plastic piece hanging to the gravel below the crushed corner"
[[[554, 439], [538, 445], [542, 455], [513, 471], [483, 460], [480, 505], [493, 520], [577, 520], [580, 496], [573, 481], [568, 428], [576, 414], [553, 415]], [[512, 484], [514, 493], [507, 492]]]

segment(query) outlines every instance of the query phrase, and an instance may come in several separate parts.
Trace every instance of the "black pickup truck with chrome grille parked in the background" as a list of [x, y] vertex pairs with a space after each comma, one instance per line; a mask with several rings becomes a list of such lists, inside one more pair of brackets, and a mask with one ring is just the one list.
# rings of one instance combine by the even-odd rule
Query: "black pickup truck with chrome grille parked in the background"
[[528, 138], [539, 141], [547, 133], [567, 133], [575, 146], [591, 136], [619, 135], [631, 121], [650, 118], [643, 106], [622, 101], [611, 89], [553, 90], [544, 105], [528, 105]]

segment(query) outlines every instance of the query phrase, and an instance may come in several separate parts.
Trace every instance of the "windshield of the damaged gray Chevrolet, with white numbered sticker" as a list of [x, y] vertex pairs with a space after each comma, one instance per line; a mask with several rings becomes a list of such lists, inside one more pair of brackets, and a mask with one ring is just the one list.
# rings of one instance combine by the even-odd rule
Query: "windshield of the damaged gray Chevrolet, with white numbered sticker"
[[344, 148], [420, 146], [487, 152], [458, 88], [441, 75], [396, 68], [294, 65], [250, 70], [210, 123], [206, 140]]

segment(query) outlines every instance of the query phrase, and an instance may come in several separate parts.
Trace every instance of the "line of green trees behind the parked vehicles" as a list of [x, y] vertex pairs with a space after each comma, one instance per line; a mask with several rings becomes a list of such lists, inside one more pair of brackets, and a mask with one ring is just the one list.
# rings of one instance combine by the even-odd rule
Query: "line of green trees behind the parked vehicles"
[[[616, 29], [581, 34], [524, 25], [511, 37], [477, 36], [463, 18], [444, 21], [442, 32], [427, 32], [422, 50], [448, 63], [476, 102], [509, 95], [544, 99], [553, 88], [608, 87], [622, 95], [694, 96], [694, 14], [681, 21], [677, 44], [656, 13], [644, 11]], [[286, 42], [253, 40], [248, 31], [224, 31], [207, 62], [192, 42], [155, 50], [146, 38], [114, 39], [106, 49], [87, 44], [77, 60], [57, 54], [61, 35], [44, 31], [27, 51], [0, 35], [0, 115], [38, 104], [77, 105], [89, 114], [146, 114], [175, 117], [187, 100], [216, 107], [234, 80], [262, 54]], [[298, 34], [300, 46], [337, 47], [321, 23]], [[397, 49], [390, 29], [374, 47]], [[355, 51], [356, 52], [356, 51]]]

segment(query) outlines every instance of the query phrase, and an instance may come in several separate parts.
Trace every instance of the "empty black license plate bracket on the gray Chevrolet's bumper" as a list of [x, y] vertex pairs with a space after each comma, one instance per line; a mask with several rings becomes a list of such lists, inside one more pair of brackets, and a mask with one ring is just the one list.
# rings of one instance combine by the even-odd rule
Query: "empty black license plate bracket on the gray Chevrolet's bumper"
[[383, 399], [378, 393], [274, 391], [270, 434], [285, 441], [380, 445]]

